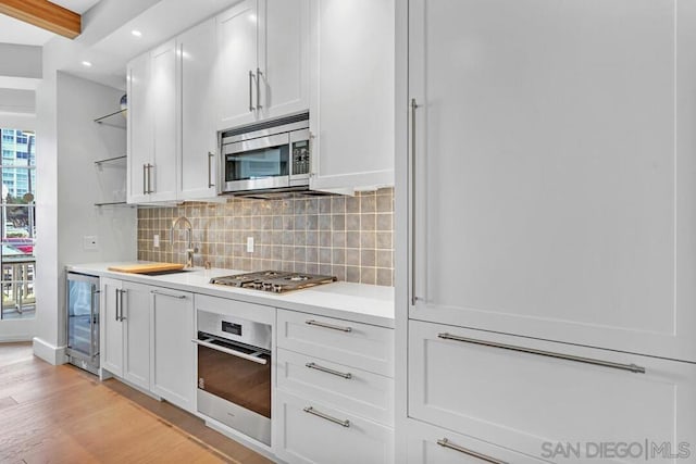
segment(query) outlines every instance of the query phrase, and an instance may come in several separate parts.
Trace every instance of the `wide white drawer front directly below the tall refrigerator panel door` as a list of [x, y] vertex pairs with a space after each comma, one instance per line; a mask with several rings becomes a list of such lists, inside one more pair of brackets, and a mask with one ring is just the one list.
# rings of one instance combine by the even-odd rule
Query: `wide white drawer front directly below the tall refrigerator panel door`
[[[596, 457], [596, 443], [604, 442], [694, 447], [694, 364], [421, 322], [409, 324], [409, 338], [411, 417], [532, 456], [559, 442], [580, 443], [583, 459]], [[645, 373], [617, 368], [624, 364]]]

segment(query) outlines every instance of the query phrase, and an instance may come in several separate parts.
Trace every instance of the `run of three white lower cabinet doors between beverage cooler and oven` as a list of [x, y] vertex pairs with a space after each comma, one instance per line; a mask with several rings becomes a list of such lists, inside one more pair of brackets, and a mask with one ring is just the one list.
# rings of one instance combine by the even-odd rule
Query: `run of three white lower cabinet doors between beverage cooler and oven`
[[194, 296], [101, 279], [102, 368], [187, 411], [196, 411]]

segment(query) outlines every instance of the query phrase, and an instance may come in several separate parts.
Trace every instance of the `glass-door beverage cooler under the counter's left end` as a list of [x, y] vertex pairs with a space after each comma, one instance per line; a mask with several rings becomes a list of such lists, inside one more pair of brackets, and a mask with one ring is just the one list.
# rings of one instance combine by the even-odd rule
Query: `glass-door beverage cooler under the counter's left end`
[[66, 276], [67, 361], [99, 373], [99, 277], [77, 273]]

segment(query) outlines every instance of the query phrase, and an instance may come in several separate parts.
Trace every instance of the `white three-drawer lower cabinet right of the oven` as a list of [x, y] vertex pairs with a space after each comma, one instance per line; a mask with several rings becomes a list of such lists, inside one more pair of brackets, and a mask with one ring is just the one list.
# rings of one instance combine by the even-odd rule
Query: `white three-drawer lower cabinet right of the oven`
[[295, 463], [394, 462], [394, 330], [277, 311], [275, 454]]

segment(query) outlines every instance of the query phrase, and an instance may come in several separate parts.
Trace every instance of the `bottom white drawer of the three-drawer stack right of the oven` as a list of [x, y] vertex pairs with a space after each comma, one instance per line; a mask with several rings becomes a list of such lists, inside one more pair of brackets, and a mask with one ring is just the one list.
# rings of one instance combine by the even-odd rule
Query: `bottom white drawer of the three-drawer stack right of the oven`
[[394, 462], [394, 430], [283, 391], [276, 396], [276, 454], [295, 463]]

